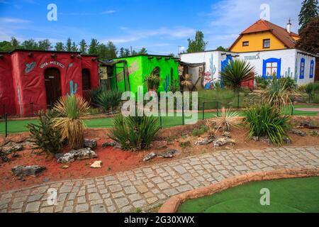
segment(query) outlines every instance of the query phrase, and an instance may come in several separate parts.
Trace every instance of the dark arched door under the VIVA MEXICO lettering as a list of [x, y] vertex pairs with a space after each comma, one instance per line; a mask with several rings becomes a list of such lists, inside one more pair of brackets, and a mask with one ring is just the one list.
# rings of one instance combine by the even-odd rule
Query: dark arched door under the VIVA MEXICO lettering
[[61, 96], [60, 71], [55, 68], [45, 70], [45, 92], [47, 107], [51, 108]]

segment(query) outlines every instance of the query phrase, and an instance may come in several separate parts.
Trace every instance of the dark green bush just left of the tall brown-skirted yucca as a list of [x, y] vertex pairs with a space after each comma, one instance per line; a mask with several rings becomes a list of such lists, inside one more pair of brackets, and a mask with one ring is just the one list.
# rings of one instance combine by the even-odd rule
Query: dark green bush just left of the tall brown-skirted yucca
[[43, 150], [45, 153], [59, 153], [62, 148], [60, 131], [53, 127], [52, 119], [59, 114], [55, 111], [39, 112], [38, 123], [28, 123], [27, 128], [35, 145], [34, 150]]

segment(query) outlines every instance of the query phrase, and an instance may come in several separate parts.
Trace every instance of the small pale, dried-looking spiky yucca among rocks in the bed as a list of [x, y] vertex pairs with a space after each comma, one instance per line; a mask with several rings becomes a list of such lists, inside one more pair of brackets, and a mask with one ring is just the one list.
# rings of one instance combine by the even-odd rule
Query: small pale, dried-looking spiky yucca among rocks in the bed
[[223, 131], [229, 132], [231, 127], [238, 128], [242, 120], [239, 118], [239, 115], [236, 111], [231, 112], [230, 109], [225, 109], [225, 107], [223, 107], [220, 118], [208, 121], [213, 121], [216, 123], [216, 132], [220, 128], [222, 128]]

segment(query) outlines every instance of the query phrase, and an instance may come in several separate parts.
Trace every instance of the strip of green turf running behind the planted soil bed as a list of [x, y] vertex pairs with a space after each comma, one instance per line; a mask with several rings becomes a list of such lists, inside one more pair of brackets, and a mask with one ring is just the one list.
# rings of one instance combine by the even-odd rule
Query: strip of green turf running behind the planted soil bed
[[[316, 108], [318, 106], [294, 106], [294, 108]], [[298, 116], [317, 116], [318, 112], [309, 112], [309, 111], [296, 111], [293, 110], [293, 115]], [[219, 112], [220, 113], [220, 112]], [[291, 107], [284, 110], [285, 114], [291, 114]], [[240, 116], [243, 116], [243, 112], [239, 112]], [[198, 111], [198, 119], [203, 119], [203, 114], [201, 111]], [[216, 113], [205, 113], [204, 118], [213, 118], [216, 117]], [[187, 117], [185, 117], [187, 118]], [[26, 126], [28, 123], [36, 123], [38, 120], [21, 120], [21, 121], [8, 121], [8, 133], [21, 133], [28, 131]], [[88, 119], [84, 120], [86, 126], [89, 128], [110, 128], [113, 125], [113, 118], [98, 118], [98, 119]], [[158, 120], [159, 123], [159, 120]], [[183, 124], [183, 119], [181, 116], [163, 116], [162, 117], [162, 127], [172, 127], [180, 126]], [[0, 134], [5, 133], [5, 123], [0, 122]]]

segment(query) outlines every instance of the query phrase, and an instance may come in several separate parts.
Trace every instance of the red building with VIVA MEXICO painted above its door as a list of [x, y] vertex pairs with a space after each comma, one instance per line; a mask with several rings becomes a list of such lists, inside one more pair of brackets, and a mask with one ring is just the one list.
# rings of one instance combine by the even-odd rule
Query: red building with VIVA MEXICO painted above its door
[[99, 86], [99, 63], [79, 52], [0, 52], [0, 114], [30, 116], [67, 94]]

